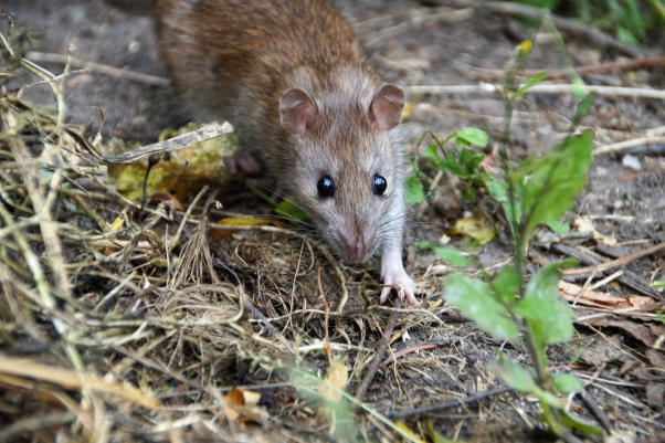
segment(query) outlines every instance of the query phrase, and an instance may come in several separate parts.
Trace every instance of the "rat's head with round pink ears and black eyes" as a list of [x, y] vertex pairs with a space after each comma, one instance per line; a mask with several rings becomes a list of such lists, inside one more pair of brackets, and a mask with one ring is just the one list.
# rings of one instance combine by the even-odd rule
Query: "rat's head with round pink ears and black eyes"
[[[324, 239], [344, 260], [362, 263], [389, 242], [401, 244], [404, 93], [383, 85], [351, 94], [286, 91], [282, 126], [291, 134], [291, 188]], [[346, 96], [345, 96], [346, 95]], [[291, 154], [291, 152], [289, 152]]]

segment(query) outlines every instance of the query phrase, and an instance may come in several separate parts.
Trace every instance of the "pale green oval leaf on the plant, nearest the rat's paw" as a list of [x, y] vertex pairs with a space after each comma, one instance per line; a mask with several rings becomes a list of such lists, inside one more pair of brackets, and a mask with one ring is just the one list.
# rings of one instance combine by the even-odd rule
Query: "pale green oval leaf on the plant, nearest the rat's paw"
[[518, 326], [484, 282], [454, 274], [445, 279], [443, 292], [450, 304], [489, 334], [502, 338], [517, 337]]

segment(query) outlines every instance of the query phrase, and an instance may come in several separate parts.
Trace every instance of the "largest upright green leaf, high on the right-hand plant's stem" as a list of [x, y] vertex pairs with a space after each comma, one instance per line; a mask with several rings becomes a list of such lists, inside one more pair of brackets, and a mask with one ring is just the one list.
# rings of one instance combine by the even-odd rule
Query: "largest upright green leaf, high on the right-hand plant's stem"
[[593, 135], [570, 137], [542, 158], [528, 158], [510, 172], [524, 214], [525, 239], [543, 223], [555, 223], [574, 204], [591, 166]]

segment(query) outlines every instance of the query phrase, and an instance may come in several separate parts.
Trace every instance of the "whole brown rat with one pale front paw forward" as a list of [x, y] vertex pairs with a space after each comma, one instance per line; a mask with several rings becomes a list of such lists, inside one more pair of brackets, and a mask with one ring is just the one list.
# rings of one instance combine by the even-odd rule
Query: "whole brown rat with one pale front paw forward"
[[416, 304], [402, 263], [404, 93], [379, 78], [337, 10], [324, 0], [106, 1], [155, 19], [190, 117], [228, 119], [332, 252], [363, 263], [379, 250], [383, 283]]

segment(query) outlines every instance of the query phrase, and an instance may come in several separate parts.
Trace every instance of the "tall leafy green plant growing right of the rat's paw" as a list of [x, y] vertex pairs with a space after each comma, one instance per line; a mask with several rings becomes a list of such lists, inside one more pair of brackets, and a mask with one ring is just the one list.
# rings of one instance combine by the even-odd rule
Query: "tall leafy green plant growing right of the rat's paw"
[[[569, 430], [602, 433], [593, 424], [567, 412], [559, 398], [561, 393], [581, 391], [580, 382], [568, 373], [548, 372], [546, 347], [567, 341], [574, 333], [572, 309], [564, 300], [559, 300], [557, 294], [561, 270], [576, 262], [568, 260], [548, 264], [531, 276], [528, 283], [525, 275], [525, 255], [535, 230], [542, 224], [560, 226], [559, 218], [573, 207], [576, 197], [584, 187], [591, 166], [592, 134], [585, 131], [573, 135], [572, 129], [588, 113], [593, 96], [580, 101], [571, 131], [562, 144], [540, 158], [529, 157], [519, 165], [511, 166], [508, 162], [507, 145], [513, 109], [528, 88], [543, 78], [542, 74], [538, 74], [524, 85], [515, 81], [516, 73], [524, 70], [531, 48], [530, 42], [520, 45], [516, 67], [507, 75], [505, 83], [508, 118], [499, 152], [505, 181], [478, 170], [484, 156], [469, 149], [472, 143], [465, 141], [462, 146], [456, 143], [460, 154], [454, 156], [443, 150], [443, 144], [452, 138], [448, 137], [443, 144], [436, 143], [429, 147], [424, 155], [440, 170], [452, 172], [464, 180], [468, 189], [485, 187], [488, 194], [502, 204], [515, 242], [515, 266], [504, 267], [492, 279], [476, 260], [454, 253], [454, 250], [451, 252], [450, 247], [430, 243], [420, 243], [419, 246], [432, 249], [455, 266], [475, 265], [481, 268], [483, 279], [461, 274], [450, 275], [445, 281], [444, 296], [486, 331], [505, 339], [519, 336], [524, 338], [531, 356], [530, 372], [503, 354], [492, 368], [517, 391], [536, 395], [540, 400], [542, 414], [539, 418], [548, 424], [550, 431], [557, 435], [568, 435]], [[476, 129], [468, 131], [477, 134]], [[454, 136], [460, 139], [462, 134], [465, 131], [455, 133]], [[468, 192], [467, 196], [473, 197], [475, 192]]]

